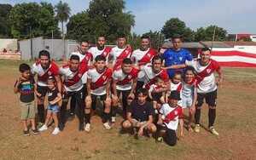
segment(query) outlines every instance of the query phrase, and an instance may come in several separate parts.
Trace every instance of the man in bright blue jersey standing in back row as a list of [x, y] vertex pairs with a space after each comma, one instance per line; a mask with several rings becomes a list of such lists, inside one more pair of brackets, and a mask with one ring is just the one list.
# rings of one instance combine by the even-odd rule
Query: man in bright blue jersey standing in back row
[[186, 60], [193, 60], [193, 56], [190, 54], [189, 50], [181, 48], [182, 37], [172, 37], [172, 45], [173, 49], [167, 49], [166, 52], [162, 54], [162, 58], [165, 60], [165, 68], [170, 78], [174, 76], [175, 71], [183, 72], [183, 69], [172, 69], [172, 65], [181, 65], [184, 64]]

